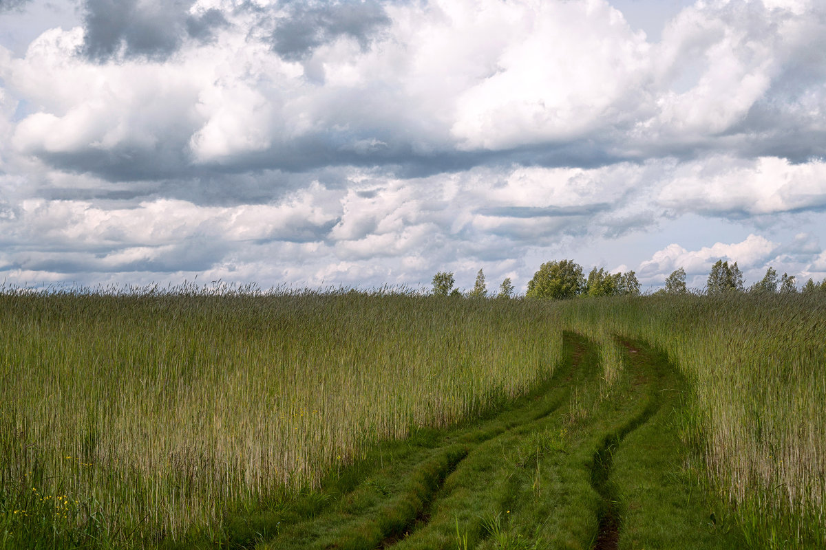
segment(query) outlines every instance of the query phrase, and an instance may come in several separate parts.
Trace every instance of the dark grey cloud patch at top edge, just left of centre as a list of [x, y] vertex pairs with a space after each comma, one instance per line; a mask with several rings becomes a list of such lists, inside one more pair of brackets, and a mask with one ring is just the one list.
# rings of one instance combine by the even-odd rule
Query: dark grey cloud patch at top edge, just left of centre
[[303, 59], [318, 46], [339, 36], [358, 40], [366, 49], [373, 36], [383, 26], [390, 24], [382, 2], [366, 0], [358, 2], [285, 2], [287, 16], [273, 21], [270, 40], [273, 51], [283, 59]]

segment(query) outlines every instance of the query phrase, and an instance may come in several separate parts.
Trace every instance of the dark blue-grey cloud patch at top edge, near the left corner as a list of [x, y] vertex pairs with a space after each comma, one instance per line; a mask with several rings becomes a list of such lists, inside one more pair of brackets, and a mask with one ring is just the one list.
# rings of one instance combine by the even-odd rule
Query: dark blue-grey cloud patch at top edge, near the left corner
[[118, 55], [126, 59], [168, 59], [186, 35], [210, 40], [213, 31], [228, 23], [215, 9], [192, 16], [193, 0], [166, 0], [157, 6], [138, 0], [86, 0], [83, 54], [105, 61]]

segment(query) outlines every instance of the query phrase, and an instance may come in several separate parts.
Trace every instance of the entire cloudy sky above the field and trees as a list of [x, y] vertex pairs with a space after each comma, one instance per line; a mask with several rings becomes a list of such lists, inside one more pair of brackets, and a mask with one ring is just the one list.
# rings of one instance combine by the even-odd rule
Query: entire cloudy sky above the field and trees
[[826, 278], [823, 0], [0, 0], [0, 281]]

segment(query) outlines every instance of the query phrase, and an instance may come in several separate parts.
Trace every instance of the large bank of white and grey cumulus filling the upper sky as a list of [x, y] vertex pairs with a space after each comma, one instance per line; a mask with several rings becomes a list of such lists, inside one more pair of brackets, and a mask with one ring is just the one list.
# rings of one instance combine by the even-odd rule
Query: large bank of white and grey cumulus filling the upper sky
[[650, 44], [601, 0], [236, 3], [87, 0], [2, 71], [19, 152], [111, 181], [826, 156], [819, 4], [698, 3]]

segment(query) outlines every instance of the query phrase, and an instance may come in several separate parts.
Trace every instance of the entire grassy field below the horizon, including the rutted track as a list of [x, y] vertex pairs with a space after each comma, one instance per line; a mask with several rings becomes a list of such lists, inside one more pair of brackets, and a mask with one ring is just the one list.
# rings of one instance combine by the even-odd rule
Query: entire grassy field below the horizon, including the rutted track
[[818, 294], [6, 289], [0, 327], [0, 548], [826, 545]]

